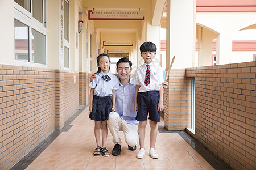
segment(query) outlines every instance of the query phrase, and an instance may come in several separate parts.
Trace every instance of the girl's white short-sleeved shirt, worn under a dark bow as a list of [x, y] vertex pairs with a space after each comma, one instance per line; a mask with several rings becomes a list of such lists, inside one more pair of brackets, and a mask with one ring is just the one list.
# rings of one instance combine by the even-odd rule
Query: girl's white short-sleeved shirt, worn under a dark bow
[[90, 82], [89, 88], [94, 88], [94, 95], [99, 97], [112, 96], [112, 90], [118, 90], [119, 88], [119, 80], [117, 76], [111, 74], [110, 71], [106, 74], [110, 76], [111, 80], [106, 82], [101, 77], [105, 75], [103, 71], [96, 74], [96, 78]]

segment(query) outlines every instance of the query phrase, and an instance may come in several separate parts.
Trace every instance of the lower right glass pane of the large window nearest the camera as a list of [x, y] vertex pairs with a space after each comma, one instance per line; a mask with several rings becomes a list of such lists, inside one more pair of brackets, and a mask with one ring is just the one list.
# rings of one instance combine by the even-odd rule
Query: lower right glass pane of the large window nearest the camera
[[34, 63], [46, 64], [46, 36], [32, 29], [32, 59]]

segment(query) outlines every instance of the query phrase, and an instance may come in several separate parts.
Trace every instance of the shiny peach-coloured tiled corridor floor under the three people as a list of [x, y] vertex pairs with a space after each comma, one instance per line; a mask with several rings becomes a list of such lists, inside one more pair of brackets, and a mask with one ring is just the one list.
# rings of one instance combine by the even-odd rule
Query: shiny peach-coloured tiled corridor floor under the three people
[[[121, 155], [93, 156], [96, 147], [94, 122], [88, 114], [88, 108], [84, 109], [73, 120], [71, 128], [58, 135], [26, 169], [214, 169], [179, 133], [158, 133], [156, 151], [159, 158], [150, 158], [149, 125], [146, 127], [146, 155], [143, 159], [136, 158], [138, 148], [128, 150], [123, 133]], [[164, 122], [159, 125], [163, 126]], [[107, 147], [110, 152], [113, 146], [109, 132]]]

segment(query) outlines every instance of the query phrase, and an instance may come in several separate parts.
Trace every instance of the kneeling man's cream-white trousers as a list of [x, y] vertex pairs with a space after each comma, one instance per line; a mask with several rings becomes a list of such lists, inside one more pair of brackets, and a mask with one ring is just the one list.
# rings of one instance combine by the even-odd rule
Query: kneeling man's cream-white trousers
[[119, 116], [117, 112], [109, 113], [108, 120], [109, 131], [113, 136], [113, 142], [115, 144], [121, 145], [121, 139], [119, 137], [119, 131], [123, 131], [125, 134], [125, 142], [129, 146], [135, 146], [139, 142], [139, 134], [138, 134], [138, 125], [137, 124], [127, 124], [122, 117]]

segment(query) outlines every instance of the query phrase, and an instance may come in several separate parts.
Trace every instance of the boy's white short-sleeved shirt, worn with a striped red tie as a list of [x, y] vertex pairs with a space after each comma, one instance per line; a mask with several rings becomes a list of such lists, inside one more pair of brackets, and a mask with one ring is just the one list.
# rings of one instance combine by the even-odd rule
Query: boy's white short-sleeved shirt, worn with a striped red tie
[[145, 84], [145, 76], [147, 71], [147, 64], [144, 63], [142, 66], [139, 66], [133, 78], [133, 83], [136, 85], [140, 85], [139, 92], [146, 92], [146, 91], [160, 91], [160, 84], [162, 84], [163, 80], [163, 71], [162, 68], [159, 66], [154, 66], [151, 62], [150, 66], [150, 84], [146, 86]]

